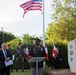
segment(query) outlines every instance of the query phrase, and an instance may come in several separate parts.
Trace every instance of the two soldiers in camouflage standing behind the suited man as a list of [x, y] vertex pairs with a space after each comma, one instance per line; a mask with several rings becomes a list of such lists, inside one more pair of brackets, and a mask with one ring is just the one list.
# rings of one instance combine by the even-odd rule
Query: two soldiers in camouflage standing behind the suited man
[[[21, 69], [22, 72], [24, 72], [24, 69], [27, 69], [27, 62], [28, 62], [26, 59], [27, 49], [22, 48], [22, 44], [18, 43], [16, 50], [12, 50], [10, 44], [8, 45], [7, 50], [11, 52], [12, 60], [13, 61], [15, 60], [16, 72], [18, 72], [19, 69]], [[13, 65], [11, 65], [11, 72], [13, 72]]]

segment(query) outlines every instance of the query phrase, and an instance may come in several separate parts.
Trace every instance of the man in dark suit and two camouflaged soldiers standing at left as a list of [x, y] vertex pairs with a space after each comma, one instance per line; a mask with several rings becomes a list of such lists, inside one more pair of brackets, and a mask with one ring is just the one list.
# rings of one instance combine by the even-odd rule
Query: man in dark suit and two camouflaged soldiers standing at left
[[25, 49], [22, 49], [21, 43], [18, 43], [16, 50], [12, 50], [11, 45], [8, 44], [6, 47], [5, 43], [2, 43], [0, 50], [0, 75], [10, 75], [10, 71], [13, 72], [13, 64], [6, 66], [5, 62], [16, 61], [16, 71], [21, 68], [22, 72], [25, 69], [26, 55]]

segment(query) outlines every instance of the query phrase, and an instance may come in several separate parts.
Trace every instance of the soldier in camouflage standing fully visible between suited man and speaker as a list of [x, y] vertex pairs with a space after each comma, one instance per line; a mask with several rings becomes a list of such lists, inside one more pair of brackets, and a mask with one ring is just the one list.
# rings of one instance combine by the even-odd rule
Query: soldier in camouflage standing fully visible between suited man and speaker
[[18, 72], [19, 68], [21, 68], [23, 72], [24, 71], [24, 55], [23, 55], [23, 49], [21, 47], [21, 43], [18, 44], [15, 57], [16, 57], [16, 72]]

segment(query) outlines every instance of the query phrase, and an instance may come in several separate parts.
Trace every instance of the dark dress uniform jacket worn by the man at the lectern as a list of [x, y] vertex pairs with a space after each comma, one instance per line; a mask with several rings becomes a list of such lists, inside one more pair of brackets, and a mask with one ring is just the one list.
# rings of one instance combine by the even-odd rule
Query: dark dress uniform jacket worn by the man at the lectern
[[[36, 57], [36, 56], [37, 57], [45, 57], [46, 56], [45, 48], [41, 45], [39, 45], [39, 46], [33, 45], [30, 49], [30, 56], [31, 57]], [[36, 63], [32, 62], [31, 67], [36, 68]], [[38, 68], [43, 68], [43, 61], [38, 62]]]

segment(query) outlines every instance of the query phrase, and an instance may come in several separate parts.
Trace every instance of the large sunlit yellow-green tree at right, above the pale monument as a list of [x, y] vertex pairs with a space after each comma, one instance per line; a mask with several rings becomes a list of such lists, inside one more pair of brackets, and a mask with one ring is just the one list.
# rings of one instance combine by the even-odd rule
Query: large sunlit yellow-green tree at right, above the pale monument
[[47, 42], [71, 41], [76, 38], [75, 0], [53, 0], [54, 21], [46, 31]]

